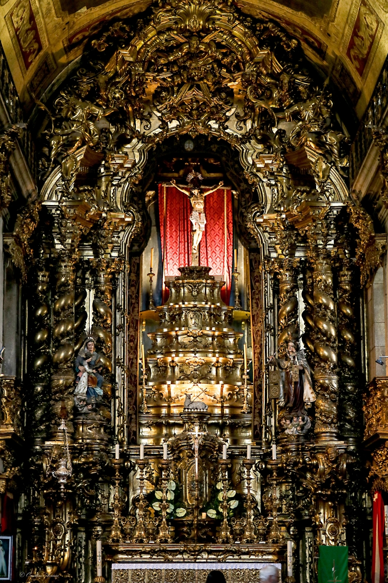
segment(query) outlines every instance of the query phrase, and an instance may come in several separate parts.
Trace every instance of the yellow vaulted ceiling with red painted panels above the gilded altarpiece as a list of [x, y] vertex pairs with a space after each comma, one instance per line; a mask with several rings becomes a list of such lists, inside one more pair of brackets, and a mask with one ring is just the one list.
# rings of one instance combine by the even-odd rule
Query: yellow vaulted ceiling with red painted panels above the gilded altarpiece
[[[360, 118], [388, 52], [388, 0], [243, 0], [243, 12], [276, 20], [339, 87]], [[144, 0], [0, 0], [0, 40], [23, 104], [76, 64], [87, 38]]]

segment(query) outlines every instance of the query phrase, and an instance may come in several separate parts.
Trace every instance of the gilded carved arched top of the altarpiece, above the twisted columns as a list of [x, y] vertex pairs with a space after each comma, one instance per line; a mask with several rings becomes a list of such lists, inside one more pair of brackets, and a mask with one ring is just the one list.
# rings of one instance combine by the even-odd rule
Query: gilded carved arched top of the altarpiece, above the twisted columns
[[[297, 40], [229, 1], [155, 2], [137, 21], [111, 24], [52, 106], [38, 104], [51, 119], [42, 200], [126, 214], [127, 242], [147, 222], [150, 151], [173, 136], [216, 139], [239, 154], [243, 180], [230, 175], [237, 227], [256, 241], [263, 213], [347, 198], [347, 139], [326, 83]], [[79, 180], [86, 169], [94, 182]]]

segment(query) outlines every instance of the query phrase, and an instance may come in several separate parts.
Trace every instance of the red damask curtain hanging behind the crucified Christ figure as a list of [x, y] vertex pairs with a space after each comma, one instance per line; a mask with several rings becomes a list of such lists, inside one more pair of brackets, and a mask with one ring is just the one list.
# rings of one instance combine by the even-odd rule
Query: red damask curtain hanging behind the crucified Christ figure
[[[191, 265], [190, 214], [187, 195], [175, 187], [159, 184], [164, 276], [179, 275], [179, 267]], [[226, 279], [226, 289], [223, 287], [221, 295], [229, 304], [233, 259], [232, 192], [219, 188], [205, 196], [205, 216], [207, 224], [200, 244], [200, 265], [211, 267], [211, 275], [222, 275]]]

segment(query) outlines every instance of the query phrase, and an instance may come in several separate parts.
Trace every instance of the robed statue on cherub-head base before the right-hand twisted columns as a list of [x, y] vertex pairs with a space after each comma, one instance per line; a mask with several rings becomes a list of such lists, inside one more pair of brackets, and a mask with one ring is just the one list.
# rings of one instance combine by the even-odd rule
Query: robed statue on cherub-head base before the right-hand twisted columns
[[280, 371], [279, 407], [284, 407], [282, 425], [290, 434], [302, 434], [309, 427], [306, 410], [314, 403], [316, 396], [312, 388], [311, 370], [297, 342], [290, 341], [282, 358], [274, 356]]

